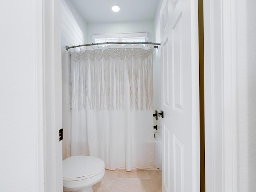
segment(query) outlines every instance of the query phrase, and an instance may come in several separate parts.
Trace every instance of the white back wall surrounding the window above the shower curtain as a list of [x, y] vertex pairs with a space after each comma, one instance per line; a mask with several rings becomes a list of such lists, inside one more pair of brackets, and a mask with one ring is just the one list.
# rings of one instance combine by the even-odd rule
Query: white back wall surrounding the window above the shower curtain
[[92, 43], [93, 34], [137, 33], [148, 32], [148, 42], [154, 41], [154, 22], [115, 22], [115, 23], [90, 23], [88, 24], [87, 42]]

